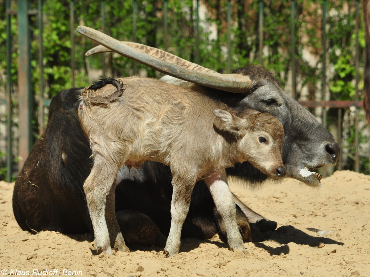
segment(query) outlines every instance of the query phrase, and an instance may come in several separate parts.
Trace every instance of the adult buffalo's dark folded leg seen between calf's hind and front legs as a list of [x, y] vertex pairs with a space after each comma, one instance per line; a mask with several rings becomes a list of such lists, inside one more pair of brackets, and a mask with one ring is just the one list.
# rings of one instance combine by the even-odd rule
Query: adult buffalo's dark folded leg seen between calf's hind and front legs
[[116, 217], [127, 244], [165, 246], [165, 235], [144, 213], [124, 210], [116, 212]]

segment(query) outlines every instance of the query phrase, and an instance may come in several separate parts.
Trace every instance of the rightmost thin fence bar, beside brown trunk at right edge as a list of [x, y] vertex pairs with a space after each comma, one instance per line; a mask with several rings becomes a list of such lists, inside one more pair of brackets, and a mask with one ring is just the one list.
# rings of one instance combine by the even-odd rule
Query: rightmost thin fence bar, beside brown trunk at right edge
[[[356, 98], [359, 100], [359, 0], [356, 0], [356, 58], [355, 58], [355, 80], [356, 80]], [[354, 170], [356, 172], [360, 171], [359, 164], [359, 109], [356, 107], [356, 118], [354, 124]]]

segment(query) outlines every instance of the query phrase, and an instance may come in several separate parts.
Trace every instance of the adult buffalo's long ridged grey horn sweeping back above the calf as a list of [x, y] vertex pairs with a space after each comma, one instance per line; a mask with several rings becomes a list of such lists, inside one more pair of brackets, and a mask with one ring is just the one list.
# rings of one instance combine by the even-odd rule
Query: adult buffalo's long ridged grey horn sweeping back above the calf
[[[133, 42], [130, 42], [130, 45], [122, 43], [89, 27], [78, 26], [77, 31], [113, 52], [138, 61], [164, 74], [198, 85], [228, 92], [245, 93], [253, 84], [247, 76], [240, 74], [221, 74], [154, 47], [133, 44]], [[134, 47], [131, 47], [131, 45]]]

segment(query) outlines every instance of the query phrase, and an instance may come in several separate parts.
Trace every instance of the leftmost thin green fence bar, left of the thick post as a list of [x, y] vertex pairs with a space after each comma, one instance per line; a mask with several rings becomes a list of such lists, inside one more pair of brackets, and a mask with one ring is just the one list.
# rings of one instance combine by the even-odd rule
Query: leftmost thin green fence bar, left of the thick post
[[10, 0], [6, 0], [6, 181], [11, 182], [12, 168], [12, 134], [11, 134], [11, 28]]

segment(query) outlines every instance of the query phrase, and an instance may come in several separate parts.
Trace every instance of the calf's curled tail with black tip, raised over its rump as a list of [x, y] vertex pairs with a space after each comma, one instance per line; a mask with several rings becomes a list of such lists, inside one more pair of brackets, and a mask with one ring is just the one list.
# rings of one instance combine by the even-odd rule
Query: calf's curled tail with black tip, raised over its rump
[[[106, 89], [106, 85], [115, 86], [115, 92], [109, 94], [111, 89]], [[109, 103], [120, 98], [125, 88], [125, 85], [123, 85], [122, 81], [119, 79], [100, 79], [90, 87], [85, 88], [81, 92], [81, 98], [85, 101], [85, 103], [90, 105], [108, 106]]]

